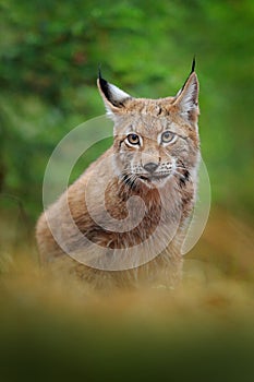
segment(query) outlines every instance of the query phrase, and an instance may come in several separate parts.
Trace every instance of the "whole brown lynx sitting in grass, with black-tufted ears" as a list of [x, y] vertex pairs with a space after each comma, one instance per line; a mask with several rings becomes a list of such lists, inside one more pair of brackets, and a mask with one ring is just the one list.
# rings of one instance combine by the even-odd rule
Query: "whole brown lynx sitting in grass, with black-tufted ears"
[[41, 261], [96, 288], [174, 287], [197, 189], [195, 60], [172, 97], [134, 98], [100, 73], [97, 84], [113, 144], [38, 219]]

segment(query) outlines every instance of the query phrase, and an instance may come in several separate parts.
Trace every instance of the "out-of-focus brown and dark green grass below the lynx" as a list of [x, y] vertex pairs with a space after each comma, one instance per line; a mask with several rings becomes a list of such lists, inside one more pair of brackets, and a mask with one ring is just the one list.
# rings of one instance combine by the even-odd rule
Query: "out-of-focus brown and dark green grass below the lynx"
[[98, 294], [43, 273], [25, 240], [5, 241], [0, 380], [252, 381], [253, 264], [250, 227], [221, 212], [176, 290]]

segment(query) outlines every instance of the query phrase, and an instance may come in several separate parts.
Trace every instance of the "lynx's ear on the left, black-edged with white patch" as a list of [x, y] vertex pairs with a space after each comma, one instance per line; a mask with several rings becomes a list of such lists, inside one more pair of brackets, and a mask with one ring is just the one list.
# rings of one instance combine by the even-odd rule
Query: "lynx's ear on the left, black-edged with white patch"
[[131, 98], [131, 96], [128, 93], [121, 91], [119, 87], [104, 80], [101, 77], [100, 71], [99, 77], [97, 80], [97, 85], [104, 99], [107, 115], [111, 118], [114, 117], [114, 114], [117, 114], [121, 108], [124, 107], [124, 102], [128, 98]]

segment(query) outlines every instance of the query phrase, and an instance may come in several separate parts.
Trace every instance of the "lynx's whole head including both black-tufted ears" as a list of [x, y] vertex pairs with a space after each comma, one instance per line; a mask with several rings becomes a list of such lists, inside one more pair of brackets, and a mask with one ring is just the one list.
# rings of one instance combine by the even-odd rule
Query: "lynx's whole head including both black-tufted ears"
[[198, 81], [192, 71], [173, 97], [134, 98], [105, 81], [98, 87], [114, 121], [114, 169], [130, 187], [161, 187], [170, 179], [182, 187], [199, 158]]

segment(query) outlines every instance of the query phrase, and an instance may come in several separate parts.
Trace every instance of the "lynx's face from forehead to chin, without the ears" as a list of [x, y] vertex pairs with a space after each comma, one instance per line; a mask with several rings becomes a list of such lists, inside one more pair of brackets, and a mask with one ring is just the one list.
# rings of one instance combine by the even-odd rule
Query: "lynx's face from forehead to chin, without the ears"
[[198, 150], [196, 133], [181, 129], [169, 116], [135, 116], [129, 123], [114, 138], [118, 175], [148, 187], [161, 187], [172, 177], [189, 179]]

